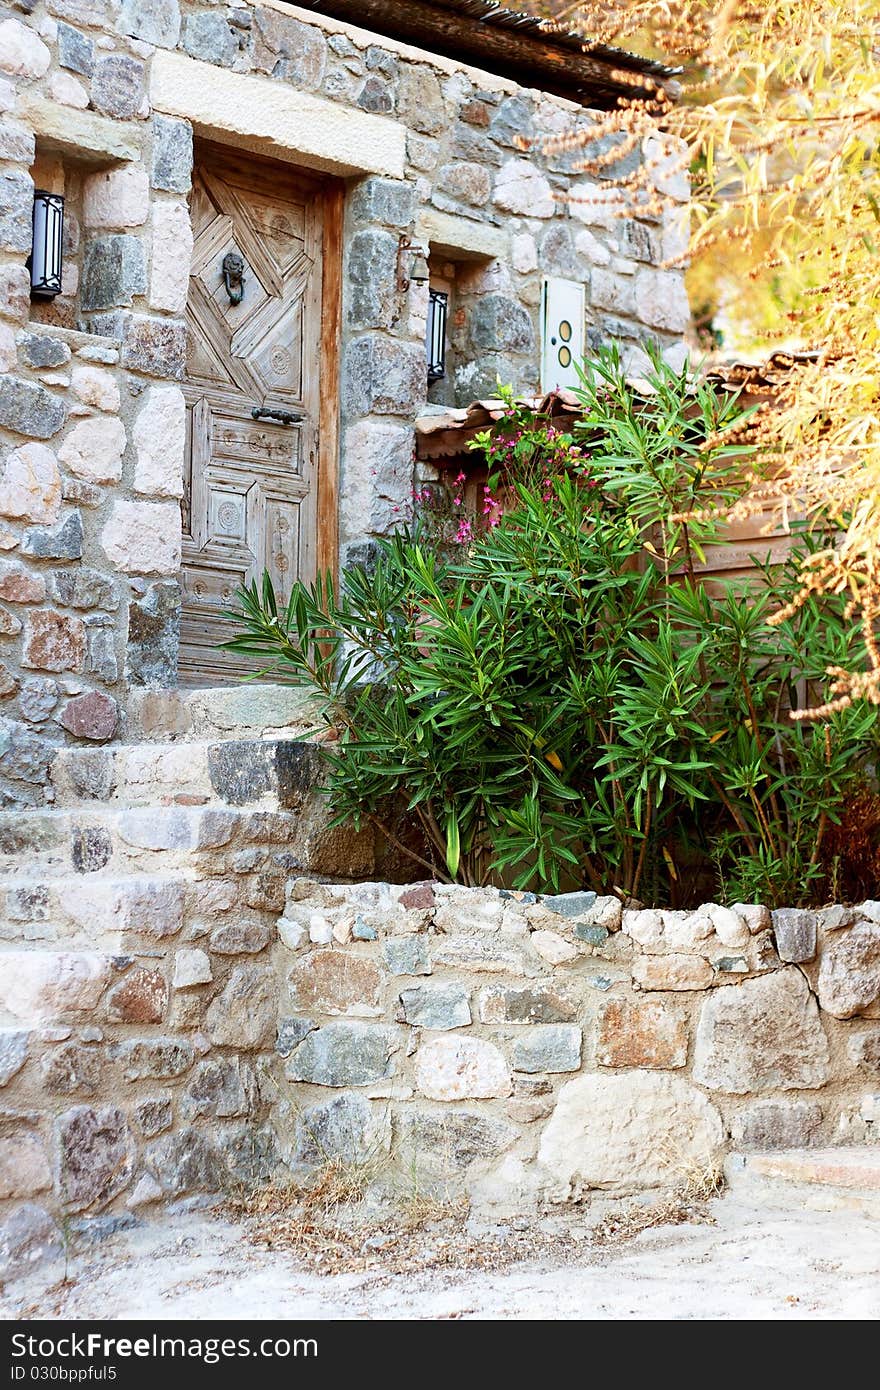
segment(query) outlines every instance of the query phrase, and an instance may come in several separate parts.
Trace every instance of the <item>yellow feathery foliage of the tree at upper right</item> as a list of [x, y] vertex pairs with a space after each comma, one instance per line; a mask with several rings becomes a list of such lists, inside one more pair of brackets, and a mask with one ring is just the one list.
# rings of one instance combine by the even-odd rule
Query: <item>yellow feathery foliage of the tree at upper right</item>
[[[652, 121], [683, 142], [692, 284], [733, 271], [753, 345], [799, 349], [753, 428], [747, 505], [776, 498], [838, 528], [806, 563], [804, 595], [848, 592], [863, 651], [829, 670], [827, 705], [801, 716], [877, 705], [880, 0], [578, 3], [555, 19], [683, 65], [678, 101], [648, 86], [603, 126], [621, 149]], [[660, 160], [627, 181], [652, 211]]]

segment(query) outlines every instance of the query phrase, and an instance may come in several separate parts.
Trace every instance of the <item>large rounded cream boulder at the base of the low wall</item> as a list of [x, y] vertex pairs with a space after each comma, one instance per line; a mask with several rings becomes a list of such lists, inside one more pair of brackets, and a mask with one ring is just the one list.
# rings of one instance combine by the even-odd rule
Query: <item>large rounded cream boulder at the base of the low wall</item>
[[722, 1141], [720, 1115], [678, 1076], [578, 1076], [559, 1093], [538, 1162], [571, 1197], [674, 1187], [694, 1168], [715, 1166]]

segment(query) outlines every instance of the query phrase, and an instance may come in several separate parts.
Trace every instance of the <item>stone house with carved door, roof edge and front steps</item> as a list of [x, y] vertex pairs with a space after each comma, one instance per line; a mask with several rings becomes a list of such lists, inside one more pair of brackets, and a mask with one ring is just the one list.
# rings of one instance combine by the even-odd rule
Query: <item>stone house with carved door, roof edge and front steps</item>
[[[375, 847], [224, 610], [367, 555], [425, 411], [680, 359], [687, 181], [601, 132], [645, 81], [489, 0], [0, 11], [0, 1204], [100, 1209], [172, 1123], [239, 1152], [266, 1112], [288, 880]], [[174, 1119], [204, 1048], [242, 1097]], [[179, 1190], [220, 1162], [190, 1130]]]

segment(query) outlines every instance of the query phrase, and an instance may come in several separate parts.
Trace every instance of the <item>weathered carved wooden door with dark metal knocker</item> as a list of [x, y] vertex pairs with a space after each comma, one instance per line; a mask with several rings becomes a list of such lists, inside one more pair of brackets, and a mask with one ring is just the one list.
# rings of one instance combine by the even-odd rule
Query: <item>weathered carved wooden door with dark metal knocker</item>
[[184, 685], [254, 669], [218, 649], [243, 581], [268, 570], [286, 598], [316, 574], [321, 195], [245, 153], [193, 175]]

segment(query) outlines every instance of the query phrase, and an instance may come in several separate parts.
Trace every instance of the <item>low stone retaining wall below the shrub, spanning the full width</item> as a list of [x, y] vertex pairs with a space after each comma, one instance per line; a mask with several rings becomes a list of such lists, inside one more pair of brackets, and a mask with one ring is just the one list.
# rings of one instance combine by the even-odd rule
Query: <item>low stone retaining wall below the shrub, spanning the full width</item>
[[879, 902], [623, 910], [299, 877], [278, 919], [256, 862], [197, 873], [127, 878], [103, 947], [83, 903], [50, 944], [22, 905], [0, 1270], [332, 1159], [525, 1212], [877, 1131]]

